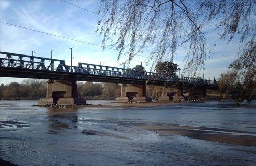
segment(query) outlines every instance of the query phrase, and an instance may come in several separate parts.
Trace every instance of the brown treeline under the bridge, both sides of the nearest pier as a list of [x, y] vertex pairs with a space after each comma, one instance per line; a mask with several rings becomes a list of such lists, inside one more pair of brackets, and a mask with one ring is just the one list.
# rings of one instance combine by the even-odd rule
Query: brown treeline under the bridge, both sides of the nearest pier
[[[0, 98], [4, 99], [39, 99], [46, 97], [47, 80], [26, 79], [20, 84], [11, 82], [1, 84]], [[77, 82], [79, 97], [115, 98], [121, 94], [121, 86], [112, 83]]]

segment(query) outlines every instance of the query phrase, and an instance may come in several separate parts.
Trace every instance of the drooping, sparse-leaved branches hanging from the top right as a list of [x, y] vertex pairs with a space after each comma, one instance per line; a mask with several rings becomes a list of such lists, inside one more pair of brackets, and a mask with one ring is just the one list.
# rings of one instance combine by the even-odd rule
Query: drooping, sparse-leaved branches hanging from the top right
[[214, 22], [221, 39], [240, 37], [238, 59], [229, 67], [250, 90], [256, 79], [255, 8], [254, 0], [99, 0], [96, 33], [103, 34], [103, 48], [110, 42], [119, 50], [118, 60], [148, 51], [155, 63], [172, 61], [178, 45], [188, 48], [183, 72], [195, 76], [205, 64], [206, 46], [214, 45], [203, 30]]

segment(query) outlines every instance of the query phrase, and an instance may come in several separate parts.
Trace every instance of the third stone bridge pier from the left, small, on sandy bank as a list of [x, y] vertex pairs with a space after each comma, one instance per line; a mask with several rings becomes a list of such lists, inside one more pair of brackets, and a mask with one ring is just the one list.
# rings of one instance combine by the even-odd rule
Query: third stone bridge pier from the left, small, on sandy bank
[[159, 101], [184, 100], [183, 86], [163, 87], [162, 96], [160, 96], [158, 100]]

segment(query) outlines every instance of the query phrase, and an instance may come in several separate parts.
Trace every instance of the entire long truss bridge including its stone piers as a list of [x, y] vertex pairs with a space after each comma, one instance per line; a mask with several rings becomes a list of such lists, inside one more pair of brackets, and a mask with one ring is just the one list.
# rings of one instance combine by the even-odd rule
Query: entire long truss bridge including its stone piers
[[[66, 65], [64, 60], [10, 52], [0, 52], [0, 76], [48, 79], [45, 103], [56, 103], [56, 100], [61, 103], [59, 101], [61, 98], [66, 98], [61, 99], [65, 102], [67, 102], [67, 98], [77, 98], [76, 81], [123, 84], [121, 97], [117, 99], [118, 101], [131, 99], [133, 101], [151, 101], [146, 96], [146, 85], [163, 86], [163, 95], [160, 100], [183, 99], [184, 86], [191, 89], [191, 96], [194, 93], [195, 96], [201, 97], [206, 95], [206, 89], [216, 89], [217, 87], [215, 80], [179, 78], [176, 75], [89, 63], [78, 63], [77, 66], [69, 66]], [[71, 90], [67, 91], [67, 89]], [[72, 102], [75, 101], [72, 99]]]

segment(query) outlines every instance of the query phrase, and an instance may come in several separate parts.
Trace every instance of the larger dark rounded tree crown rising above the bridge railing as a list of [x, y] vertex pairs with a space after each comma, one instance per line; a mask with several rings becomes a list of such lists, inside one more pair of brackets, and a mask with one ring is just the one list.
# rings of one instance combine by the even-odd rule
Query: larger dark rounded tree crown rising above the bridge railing
[[158, 62], [155, 69], [158, 73], [168, 75], [176, 75], [176, 72], [179, 71], [177, 64], [168, 61]]

